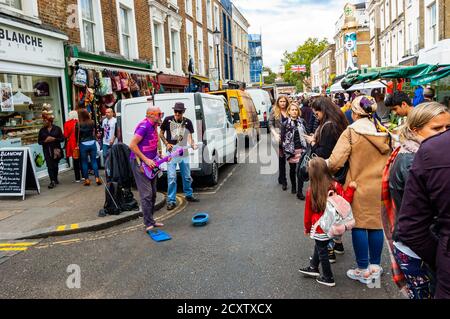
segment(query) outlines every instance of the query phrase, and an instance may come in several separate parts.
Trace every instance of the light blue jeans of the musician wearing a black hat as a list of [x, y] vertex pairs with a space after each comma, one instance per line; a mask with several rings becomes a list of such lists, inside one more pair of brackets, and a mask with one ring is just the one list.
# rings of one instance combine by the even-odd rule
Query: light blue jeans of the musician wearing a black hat
[[175, 157], [167, 163], [167, 203], [177, 202], [177, 165], [180, 166], [181, 179], [183, 181], [183, 191], [186, 197], [192, 197], [192, 177], [189, 166], [189, 157]]

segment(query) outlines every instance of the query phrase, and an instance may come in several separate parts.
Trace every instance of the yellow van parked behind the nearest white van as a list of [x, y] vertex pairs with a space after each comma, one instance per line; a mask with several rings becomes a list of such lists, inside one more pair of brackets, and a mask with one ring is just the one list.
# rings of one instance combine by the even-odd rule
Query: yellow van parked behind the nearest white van
[[258, 113], [250, 94], [242, 90], [222, 90], [210, 93], [222, 95], [227, 99], [238, 135], [243, 135], [252, 143], [259, 141]]

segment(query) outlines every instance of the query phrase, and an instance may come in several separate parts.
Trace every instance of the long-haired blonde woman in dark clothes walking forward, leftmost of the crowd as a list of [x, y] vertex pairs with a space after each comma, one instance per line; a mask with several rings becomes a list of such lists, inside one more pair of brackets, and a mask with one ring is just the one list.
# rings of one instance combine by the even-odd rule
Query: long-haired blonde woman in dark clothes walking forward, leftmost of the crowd
[[281, 143], [281, 126], [287, 120], [287, 109], [289, 107], [287, 96], [278, 97], [272, 112], [270, 113], [269, 126], [272, 133], [272, 139], [278, 146], [278, 183], [283, 185], [283, 190], [287, 190], [286, 179], [286, 156], [283, 152]]

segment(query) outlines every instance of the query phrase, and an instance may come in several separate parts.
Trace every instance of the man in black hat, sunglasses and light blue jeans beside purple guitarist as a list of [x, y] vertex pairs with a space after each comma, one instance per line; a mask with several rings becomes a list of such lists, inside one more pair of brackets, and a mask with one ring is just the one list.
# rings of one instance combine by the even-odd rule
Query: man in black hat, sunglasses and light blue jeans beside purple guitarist
[[[194, 144], [192, 134], [194, 126], [190, 119], [184, 117], [186, 107], [183, 103], [176, 103], [173, 108], [174, 115], [164, 119], [161, 125], [159, 137], [166, 145], [169, 152], [180, 147], [191, 146], [197, 149]], [[189, 153], [184, 152], [183, 156], [173, 158], [167, 164], [167, 210], [173, 210], [177, 206], [177, 164], [180, 166], [181, 178], [183, 181], [183, 191], [188, 202], [198, 202], [199, 200], [193, 196], [191, 169], [189, 166]]]

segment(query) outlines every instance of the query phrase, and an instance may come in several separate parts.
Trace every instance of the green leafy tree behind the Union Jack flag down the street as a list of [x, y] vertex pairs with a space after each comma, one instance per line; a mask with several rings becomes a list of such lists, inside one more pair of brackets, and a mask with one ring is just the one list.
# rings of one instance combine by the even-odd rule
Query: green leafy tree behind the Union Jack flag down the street
[[[283, 80], [291, 85], [295, 85], [298, 91], [303, 91], [304, 86], [310, 85], [310, 81], [307, 81], [307, 78], [311, 76], [311, 61], [328, 45], [327, 39], [319, 40], [317, 38], [309, 38], [296, 51], [285, 51], [281, 60], [285, 68]], [[292, 65], [305, 65], [306, 73], [292, 72]]]

